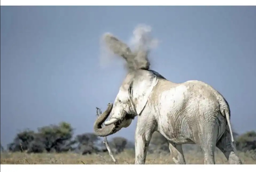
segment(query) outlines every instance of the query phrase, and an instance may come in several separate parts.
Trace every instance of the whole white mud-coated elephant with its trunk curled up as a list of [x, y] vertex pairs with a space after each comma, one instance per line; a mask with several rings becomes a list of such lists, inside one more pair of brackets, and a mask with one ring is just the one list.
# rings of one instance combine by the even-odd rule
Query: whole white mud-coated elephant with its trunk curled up
[[[110, 116], [109, 116], [110, 115]], [[109, 120], [105, 121], [109, 116]], [[130, 70], [114, 104], [94, 123], [98, 136], [128, 127], [138, 116], [135, 132], [135, 164], [145, 164], [153, 132], [168, 141], [173, 161], [186, 164], [182, 144], [197, 144], [205, 164], [215, 164], [217, 146], [230, 164], [242, 164], [234, 146], [230, 108], [223, 96], [201, 81], [173, 83], [147, 69]], [[105, 127], [101, 124], [105, 121]]]

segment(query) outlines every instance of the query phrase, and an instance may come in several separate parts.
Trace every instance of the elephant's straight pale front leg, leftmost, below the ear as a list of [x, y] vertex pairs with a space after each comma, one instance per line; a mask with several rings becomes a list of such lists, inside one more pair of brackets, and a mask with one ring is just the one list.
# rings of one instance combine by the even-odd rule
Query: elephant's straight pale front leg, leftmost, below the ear
[[135, 131], [135, 164], [145, 164], [147, 150], [153, 132], [153, 125], [150, 125], [147, 122], [140, 123], [138, 119]]

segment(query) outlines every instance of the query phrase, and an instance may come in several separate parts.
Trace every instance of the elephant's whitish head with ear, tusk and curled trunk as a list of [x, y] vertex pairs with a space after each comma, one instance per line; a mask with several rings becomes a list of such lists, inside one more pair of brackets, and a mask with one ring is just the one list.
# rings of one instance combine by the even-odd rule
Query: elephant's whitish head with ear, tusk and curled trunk
[[[128, 127], [134, 117], [143, 111], [159, 78], [165, 79], [152, 70], [139, 69], [128, 73], [115, 98], [114, 105], [110, 103], [107, 110], [95, 121], [96, 135], [108, 136], [123, 127]], [[109, 120], [105, 121], [109, 115]], [[104, 121], [106, 126], [101, 128]]]

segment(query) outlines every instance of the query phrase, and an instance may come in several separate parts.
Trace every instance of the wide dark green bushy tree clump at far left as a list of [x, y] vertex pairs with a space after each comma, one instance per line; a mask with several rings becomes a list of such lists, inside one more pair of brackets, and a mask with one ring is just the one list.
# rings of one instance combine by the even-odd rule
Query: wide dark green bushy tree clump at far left
[[45, 150], [47, 152], [68, 151], [75, 143], [71, 140], [73, 131], [71, 125], [66, 122], [40, 127], [38, 132], [26, 129], [16, 135], [14, 141], [8, 145], [8, 149], [11, 152], [28, 150], [28, 153], [40, 153]]

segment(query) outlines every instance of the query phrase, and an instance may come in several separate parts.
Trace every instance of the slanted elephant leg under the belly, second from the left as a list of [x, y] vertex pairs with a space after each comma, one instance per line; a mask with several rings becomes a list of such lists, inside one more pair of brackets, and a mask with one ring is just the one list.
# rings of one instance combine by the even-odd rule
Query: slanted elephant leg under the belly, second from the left
[[169, 149], [175, 164], [186, 164], [181, 144], [169, 142]]

